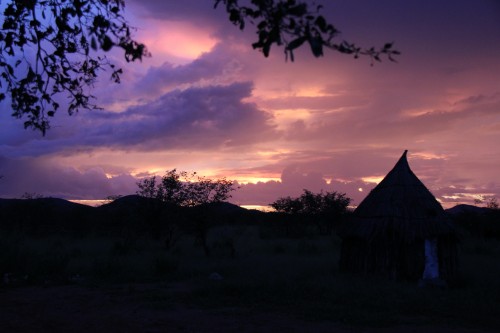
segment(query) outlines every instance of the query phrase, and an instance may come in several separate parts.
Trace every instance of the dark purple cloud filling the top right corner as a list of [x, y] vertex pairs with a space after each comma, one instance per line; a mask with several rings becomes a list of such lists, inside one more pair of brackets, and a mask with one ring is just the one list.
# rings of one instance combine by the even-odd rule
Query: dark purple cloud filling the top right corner
[[[450, 67], [489, 57], [500, 34], [498, 1], [323, 1], [342, 38], [365, 46], [395, 42], [401, 61]], [[482, 50], [488, 50], [483, 52]], [[457, 52], [459, 52], [457, 54]]]

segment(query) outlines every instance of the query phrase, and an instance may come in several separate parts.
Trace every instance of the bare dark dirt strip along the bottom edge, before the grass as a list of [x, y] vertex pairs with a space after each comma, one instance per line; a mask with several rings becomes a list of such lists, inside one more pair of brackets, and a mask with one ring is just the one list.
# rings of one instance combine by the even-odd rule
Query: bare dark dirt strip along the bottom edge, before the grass
[[[445, 326], [358, 327], [258, 309], [191, 306], [182, 283], [0, 289], [0, 332], [457, 332]], [[161, 295], [161, 296], [158, 296]]]

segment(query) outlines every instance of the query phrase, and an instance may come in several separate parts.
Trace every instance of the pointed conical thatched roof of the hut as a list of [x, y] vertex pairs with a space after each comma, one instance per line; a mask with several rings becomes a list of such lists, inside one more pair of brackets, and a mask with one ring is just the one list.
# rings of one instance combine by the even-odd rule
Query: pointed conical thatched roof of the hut
[[343, 238], [412, 242], [454, 233], [439, 202], [411, 171], [407, 152], [355, 210]]

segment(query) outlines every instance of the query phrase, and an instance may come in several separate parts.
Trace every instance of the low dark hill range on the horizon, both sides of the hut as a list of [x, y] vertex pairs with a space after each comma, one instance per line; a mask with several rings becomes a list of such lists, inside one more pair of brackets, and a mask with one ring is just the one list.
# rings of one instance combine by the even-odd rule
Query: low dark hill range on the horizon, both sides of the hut
[[[446, 212], [457, 226], [472, 235], [500, 239], [500, 210], [457, 205]], [[286, 218], [290, 218], [290, 223], [283, 223]], [[305, 224], [302, 225], [301, 221]], [[37, 237], [62, 233], [113, 237], [139, 235], [152, 233], [155, 228], [162, 230], [172, 224], [184, 232], [193, 233], [200, 223], [207, 226], [266, 225], [269, 227], [266, 232], [271, 230], [271, 234], [285, 230], [286, 235], [300, 236], [307, 232], [304, 226], [311, 224], [307, 221], [278, 213], [249, 210], [228, 202], [189, 208], [167, 205], [138, 195], [124, 196], [99, 207], [58, 198], [0, 199], [0, 232], [22, 232]]]

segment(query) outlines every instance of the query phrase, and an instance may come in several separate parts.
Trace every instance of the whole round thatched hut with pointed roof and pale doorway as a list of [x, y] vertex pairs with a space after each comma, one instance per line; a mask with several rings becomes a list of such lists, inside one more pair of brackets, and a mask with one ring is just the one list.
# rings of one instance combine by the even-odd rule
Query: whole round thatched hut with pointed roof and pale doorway
[[411, 171], [407, 150], [339, 231], [340, 269], [398, 280], [447, 281], [457, 271], [457, 234]]

